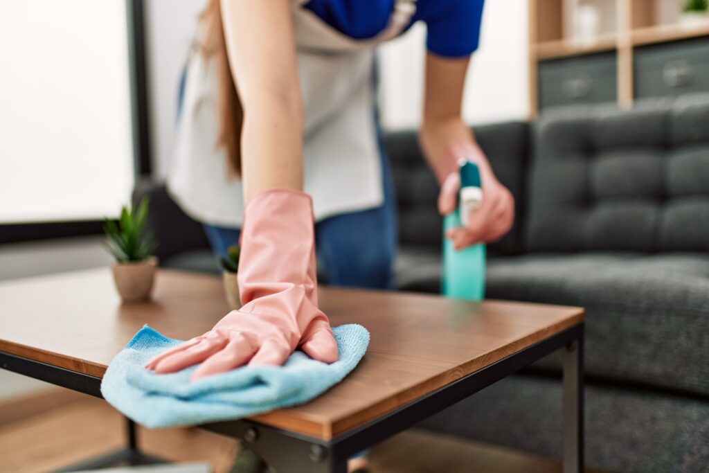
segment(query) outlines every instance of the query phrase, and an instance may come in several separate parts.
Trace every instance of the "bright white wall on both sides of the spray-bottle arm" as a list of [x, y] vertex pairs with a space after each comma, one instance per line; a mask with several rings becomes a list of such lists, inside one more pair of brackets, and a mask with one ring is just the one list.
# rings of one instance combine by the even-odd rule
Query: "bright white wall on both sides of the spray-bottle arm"
[[[463, 115], [469, 123], [525, 119], [527, 1], [486, 1], [480, 47], [466, 82]], [[388, 129], [418, 126], [423, 98], [425, 26], [415, 25], [380, 48], [382, 123]]]

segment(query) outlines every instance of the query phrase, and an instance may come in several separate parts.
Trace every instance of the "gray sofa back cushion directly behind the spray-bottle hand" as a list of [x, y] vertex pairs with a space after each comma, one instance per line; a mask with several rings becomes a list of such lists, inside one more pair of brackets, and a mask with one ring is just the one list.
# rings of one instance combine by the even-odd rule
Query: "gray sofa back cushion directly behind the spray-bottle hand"
[[[490, 245], [491, 252], [521, 251], [525, 166], [529, 149], [529, 125], [525, 122], [495, 123], [474, 128], [476, 139], [488, 156], [500, 181], [515, 196], [517, 218], [504, 238]], [[385, 148], [391, 162], [398, 206], [401, 245], [440, 248], [442, 218], [437, 211], [438, 184], [423, 158], [414, 131], [387, 133]]]

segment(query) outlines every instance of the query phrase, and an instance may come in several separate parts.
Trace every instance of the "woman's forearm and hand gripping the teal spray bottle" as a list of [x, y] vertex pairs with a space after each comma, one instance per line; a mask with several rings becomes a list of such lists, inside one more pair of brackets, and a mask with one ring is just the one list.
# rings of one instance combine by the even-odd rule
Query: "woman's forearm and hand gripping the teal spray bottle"
[[457, 204], [460, 182], [457, 161], [464, 157], [479, 165], [483, 203], [465, 228], [453, 228], [447, 238], [456, 248], [498, 240], [512, 227], [515, 206], [512, 194], [495, 177], [484, 152], [462, 118], [462, 100], [469, 57], [450, 59], [428, 52], [425, 69], [423, 123], [419, 139], [441, 191], [438, 208], [450, 213]]

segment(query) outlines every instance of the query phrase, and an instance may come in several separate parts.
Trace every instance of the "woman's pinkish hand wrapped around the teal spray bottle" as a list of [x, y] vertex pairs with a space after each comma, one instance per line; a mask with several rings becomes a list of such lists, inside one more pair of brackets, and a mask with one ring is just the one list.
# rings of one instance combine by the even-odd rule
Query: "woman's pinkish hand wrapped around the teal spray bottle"
[[[491, 243], [499, 240], [510, 231], [515, 220], [513, 196], [497, 180], [482, 150], [472, 143], [452, 145], [445, 157], [445, 162], [457, 162], [461, 158], [466, 158], [478, 165], [483, 201], [470, 212], [467, 226], [451, 228], [446, 232], [445, 237], [453, 241], [453, 247], [456, 250], [476, 243]], [[447, 215], [455, 210], [458, 204], [459, 189], [460, 176], [456, 165], [456, 170], [443, 180], [438, 194], [438, 211], [441, 215]]]

